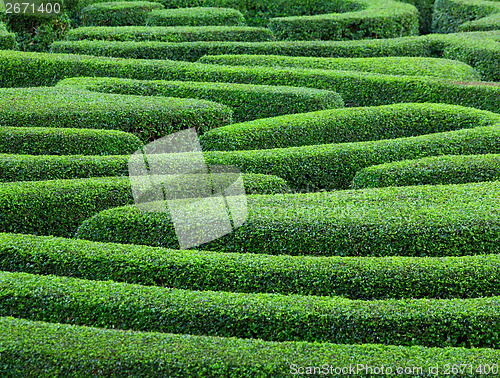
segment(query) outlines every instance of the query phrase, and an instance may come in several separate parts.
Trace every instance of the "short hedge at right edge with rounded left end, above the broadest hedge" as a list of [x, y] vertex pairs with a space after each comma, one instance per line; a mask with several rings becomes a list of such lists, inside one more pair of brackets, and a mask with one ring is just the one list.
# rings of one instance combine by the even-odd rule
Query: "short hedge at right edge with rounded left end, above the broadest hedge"
[[500, 155], [451, 155], [367, 167], [356, 173], [352, 185], [375, 188], [496, 180], [500, 180]]

